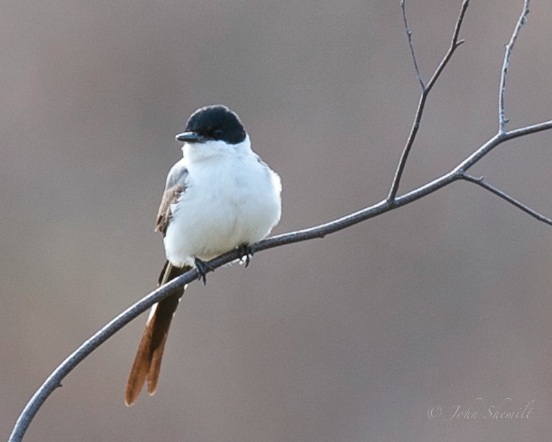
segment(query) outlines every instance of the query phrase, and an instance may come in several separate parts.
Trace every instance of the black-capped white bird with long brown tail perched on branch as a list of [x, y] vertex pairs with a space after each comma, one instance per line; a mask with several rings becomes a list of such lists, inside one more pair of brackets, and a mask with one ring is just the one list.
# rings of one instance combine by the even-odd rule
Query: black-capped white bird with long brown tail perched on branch
[[[279, 175], [253, 152], [244, 124], [228, 107], [197, 109], [176, 140], [183, 143], [183, 156], [168, 173], [155, 223], [166, 255], [159, 286], [194, 268], [205, 283], [206, 262], [233, 249], [248, 262], [249, 247], [268, 236], [282, 213]], [[148, 394], [157, 390], [168, 330], [184, 289], [150, 310], [128, 376], [127, 406], [145, 383]]]

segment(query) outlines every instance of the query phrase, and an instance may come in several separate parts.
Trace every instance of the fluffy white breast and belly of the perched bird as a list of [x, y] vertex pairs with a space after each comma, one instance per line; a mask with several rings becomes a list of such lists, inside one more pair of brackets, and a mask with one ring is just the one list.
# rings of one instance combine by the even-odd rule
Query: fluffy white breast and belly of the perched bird
[[[178, 267], [210, 260], [265, 238], [279, 221], [279, 178], [258, 162], [221, 168], [200, 164], [177, 204], [164, 239], [167, 259]], [[248, 171], [239, 175], [236, 171]]]

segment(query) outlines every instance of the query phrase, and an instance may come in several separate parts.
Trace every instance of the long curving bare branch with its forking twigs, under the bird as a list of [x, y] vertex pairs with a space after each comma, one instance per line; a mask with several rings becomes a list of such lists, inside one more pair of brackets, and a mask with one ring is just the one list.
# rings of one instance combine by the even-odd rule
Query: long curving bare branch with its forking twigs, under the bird
[[[339, 218], [338, 220], [334, 220], [326, 224], [320, 224], [309, 229], [285, 233], [279, 236], [273, 236], [272, 238], [268, 238], [266, 240], [258, 242], [257, 244], [254, 244], [253, 247], [251, 247], [253, 252], [272, 249], [273, 247], [279, 247], [284, 244], [293, 244], [295, 242], [311, 240], [313, 238], [324, 238], [324, 236], [330, 233], [346, 229], [353, 224], [357, 224], [359, 222], [373, 218], [376, 215], [380, 215], [381, 213], [397, 209], [401, 206], [419, 200], [420, 198], [423, 198], [430, 193], [442, 189], [444, 186], [447, 186], [457, 180], [474, 182], [475, 184], [482, 186], [484, 189], [489, 190], [500, 196], [500, 198], [511, 202], [511, 204], [517, 206], [519, 209], [522, 209], [526, 213], [529, 213], [529, 215], [533, 216], [534, 218], [537, 218], [542, 222], [546, 222], [547, 224], [552, 224], [552, 221], [549, 220], [549, 218], [546, 218], [543, 215], [540, 215], [540, 213], [533, 211], [533, 209], [530, 209], [528, 206], [517, 202], [509, 195], [506, 195], [506, 193], [495, 189], [493, 186], [491, 186], [491, 184], [485, 183], [480, 178], [472, 177], [471, 175], [466, 174], [466, 171], [468, 169], [470, 169], [474, 164], [480, 161], [482, 157], [488, 154], [499, 144], [502, 144], [509, 140], [513, 140], [517, 137], [529, 135], [531, 133], [538, 133], [540, 131], [552, 129], [552, 120], [539, 124], [533, 124], [532, 126], [518, 128], [514, 131], [509, 132], [506, 132], [501, 125], [501, 130], [499, 130], [496, 135], [494, 135], [485, 144], [480, 146], [480, 148], [477, 148], [477, 150], [469, 155], [469, 157], [467, 157], [464, 161], [460, 162], [460, 164], [458, 164], [449, 173], [446, 173], [441, 177], [438, 177], [435, 180], [428, 182], [427, 184], [424, 184], [417, 189], [414, 189], [413, 191], [401, 195], [400, 197], [396, 196], [404, 165], [406, 164], [406, 157], [408, 157], [408, 151], [410, 151], [417, 132], [417, 128], [420, 124], [420, 119], [422, 117], [422, 112], [424, 110], [424, 104], [428, 91], [431, 89], [431, 87], [433, 87], [433, 84], [435, 84], [435, 81], [439, 77], [444, 66], [446, 66], [447, 62], [451, 58], [455, 48], [457, 48], [462, 43], [462, 41], [457, 41], [457, 37], [460, 33], [460, 26], [462, 25], [462, 20], [464, 18], [468, 3], [469, 0], [464, 0], [464, 3], [462, 3], [462, 10], [456, 22], [455, 32], [453, 34], [453, 39], [451, 41], [451, 47], [449, 48], [449, 51], [445, 55], [444, 59], [441, 61], [441, 64], [437, 67], [437, 70], [435, 70], [435, 73], [433, 74], [433, 77], [431, 77], [431, 80], [428, 82], [426, 88], [424, 88], [424, 90], [422, 91], [422, 96], [420, 97], [420, 104], [418, 105], [416, 111], [415, 122], [413, 124], [411, 135], [409, 135], [408, 137], [408, 142], [404, 148], [400, 164], [397, 168], [397, 172], [395, 173], [395, 179], [393, 180], [393, 186], [391, 188], [391, 192], [388, 195], [388, 198], [378, 202], [377, 204], [374, 204], [371, 207], [367, 207], [355, 213], [351, 213], [350, 215], [346, 215], [343, 218]], [[524, 15], [522, 15], [522, 17], [526, 17], [526, 13], [529, 12], [528, 6], [529, 1], [525, 0], [524, 11], [526, 12], [524, 12]], [[520, 21], [524, 21], [524, 18], [520, 19]], [[520, 22], [518, 22], [518, 25], [519, 23]], [[514, 34], [516, 37], [520, 27], [521, 25], [517, 26], [514, 30]], [[513, 46], [512, 41], [515, 40], [515, 36], [513, 35], [513, 39], [511, 39], [511, 46]], [[511, 47], [506, 48], [506, 51], [509, 51], [511, 53]], [[507, 55], [506, 59], [509, 59], [509, 57], [510, 56]], [[503, 74], [504, 73], [505, 71], [503, 70]], [[502, 90], [506, 87], [505, 75], [502, 81], [504, 83], [501, 86], [501, 93]], [[229, 262], [242, 258], [240, 255], [241, 253], [238, 250], [224, 253], [224, 255], [221, 255], [208, 262], [208, 271], [212, 271], [212, 269], [216, 269], [218, 267], [221, 267], [222, 265], [228, 264]], [[99, 347], [99, 345], [101, 345], [101, 343], [105, 342], [108, 338], [110, 338], [110, 336], [117, 333], [122, 327], [124, 327], [131, 320], [149, 309], [156, 302], [159, 302], [159, 300], [166, 298], [166, 296], [170, 295], [174, 291], [177, 291], [184, 285], [197, 280], [197, 276], [197, 271], [191, 270], [179, 276], [178, 278], [175, 278], [174, 280], [168, 282], [166, 285], [159, 287], [159, 289], [152, 291], [152, 293], [150, 293], [148, 296], [142, 298], [134, 305], [128, 307], [128, 309], [119, 314], [117, 318], [110, 321], [110, 323], [108, 323], [105, 327], [100, 329], [99, 332], [94, 334], [94, 336], [83, 343], [83, 345], [75, 350], [75, 352], [70, 354], [70, 356], [68, 356], [68, 358], [66, 358], [66, 360], [63, 361], [63, 363], [61, 363], [61, 365], [59, 365], [59, 367], [57, 367], [57, 369], [55, 369], [55, 371], [52, 372], [50, 376], [48, 376], [43, 385], [41, 385], [39, 390], [37, 390], [34, 396], [32, 396], [32, 398], [24, 408], [23, 412], [21, 412], [21, 415], [19, 416], [16, 425], [14, 426], [8, 442], [20, 442], [23, 439], [23, 435], [25, 434], [28, 426], [30, 425], [30, 422], [37, 414], [41, 405], [46, 401], [48, 396], [50, 396], [50, 394], [61, 385], [61, 381], [63, 380], [63, 378], [65, 378], [65, 376], [67, 376], [67, 374], [69, 374], [72, 369], [74, 369], [79, 363], [81, 363], [81, 361], [83, 361], [86, 356], [92, 353], [97, 347]]]

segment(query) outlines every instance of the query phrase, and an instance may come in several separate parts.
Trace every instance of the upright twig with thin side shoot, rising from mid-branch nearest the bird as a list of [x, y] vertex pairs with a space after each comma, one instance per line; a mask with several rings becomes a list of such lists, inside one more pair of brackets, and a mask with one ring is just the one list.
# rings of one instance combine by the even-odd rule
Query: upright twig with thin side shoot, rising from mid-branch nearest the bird
[[[416, 115], [414, 117], [414, 122], [412, 124], [412, 128], [410, 133], [408, 134], [408, 138], [406, 139], [406, 144], [404, 146], [404, 149], [402, 151], [399, 164], [397, 166], [397, 170], [395, 171], [395, 176], [393, 177], [393, 182], [391, 183], [391, 189], [389, 190], [389, 194], [387, 197], [387, 200], [393, 203], [395, 201], [395, 198], [397, 196], [397, 192], [399, 191], [399, 184], [402, 178], [402, 174], [404, 173], [404, 167], [406, 166], [406, 160], [408, 159], [408, 154], [411, 151], [411, 148], [414, 144], [414, 140], [416, 137], [416, 134], [418, 132], [418, 129], [420, 128], [420, 122], [422, 121], [422, 114], [424, 113], [424, 107], [426, 106], [426, 99], [431, 91], [431, 88], [433, 88], [433, 85], [435, 85], [435, 82], [441, 75], [442, 71], [444, 70], [446, 64], [449, 63], [449, 60], [453, 56], [454, 51], [458, 46], [460, 46], [462, 43], [464, 43], [464, 40], [458, 41], [458, 35], [460, 35], [460, 28], [462, 27], [462, 22], [464, 21], [464, 15], [466, 14], [466, 10], [469, 6], [469, 0], [464, 0], [462, 2], [462, 8], [460, 8], [460, 15], [458, 15], [458, 18], [456, 20], [456, 25], [454, 27], [453, 37], [451, 39], [451, 46], [449, 46], [449, 50], [446, 51], [446, 54], [444, 55], [443, 59], [441, 60], [439, 66], [437, 66], [437, 69], [435, 69], [435, 73], [433, 73], [433, 76], [429, 80], [427, 86], [422, 88], [422, 93], [420, 94], [420, 101], [418, 102], [418, 107], [416, 109]], [[402, 3], [403, 4], [403, 3]], [[404, 8], [403, 8], [403, 13]], [[406, 24], [406, 19], [405, 19]], [[407, 28], [407, 34], [410, 32]], [[408, 37], [410, 39], [410, 37]], [[413, 51], [413, 49], [412, 49]], [[414, 52], [413, 52], [414, 53]]]

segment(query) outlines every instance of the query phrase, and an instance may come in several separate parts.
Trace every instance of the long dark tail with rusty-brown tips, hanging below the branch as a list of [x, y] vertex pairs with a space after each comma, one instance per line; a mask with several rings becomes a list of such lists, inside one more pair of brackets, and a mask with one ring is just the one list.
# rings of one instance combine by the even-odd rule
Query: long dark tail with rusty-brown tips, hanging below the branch
[[[190, 267], [173, 267], [167, 261], [159, 276], [159, 285], [163, 285], [189, 269]], [[149, 394], [154, 394], [157, 390], [161, 357], [167, 342], [170, 321], [183, 294], [184, 290], [178, 291], [152, 307], [152, 313], [146, 323], [146, 329], [142, 334], [126, 384], [125, 403], [129, 407], [135, 403], [146, 381], [148, 381]]]

